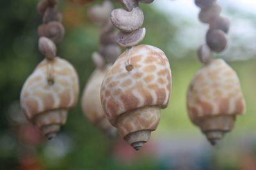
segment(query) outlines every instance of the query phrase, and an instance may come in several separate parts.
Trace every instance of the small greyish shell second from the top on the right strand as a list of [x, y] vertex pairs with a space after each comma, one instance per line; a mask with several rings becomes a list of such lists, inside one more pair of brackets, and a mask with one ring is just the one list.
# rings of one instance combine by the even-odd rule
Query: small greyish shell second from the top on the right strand
[[220, 5], [214, 3], [211, 6], [206, 6], [199, 13], [200, 21], [204, 23], [209, 23], [212, 19], [218, 17], [221, 12]]

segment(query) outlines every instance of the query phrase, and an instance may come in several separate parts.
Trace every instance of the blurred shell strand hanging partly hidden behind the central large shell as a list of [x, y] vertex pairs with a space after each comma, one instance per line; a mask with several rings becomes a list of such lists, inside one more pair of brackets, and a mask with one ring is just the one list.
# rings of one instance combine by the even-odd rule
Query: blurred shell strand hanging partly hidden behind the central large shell
[[102, 108], [100, 87], [105, 74], [111, 67], [111, 64], [106, 64], [106, 60], [115, 61], [120, 54], [120, 48], [115, 41], [114, 27], [109, 20], [112, 10], [111, 2], [104, 1], [101, 5], [92, 6], [88, 11], [90, 19], [96, 24], [102, 25], [102, 32], [100, 34], [100, 52], [94, 52], [92, 55], [92, 60], [97, 68], [84, 87], [81, 101], [84, 115], [109, 137], [115, 136], [116, 128], [108, 122]]

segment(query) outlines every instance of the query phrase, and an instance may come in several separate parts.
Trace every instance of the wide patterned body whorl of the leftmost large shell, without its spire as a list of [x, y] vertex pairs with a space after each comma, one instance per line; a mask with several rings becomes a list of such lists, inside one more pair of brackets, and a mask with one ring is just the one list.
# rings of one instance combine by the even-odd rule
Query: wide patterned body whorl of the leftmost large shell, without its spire
[[[47, 75], [51, 71], [54, 83], [49, 85]], [[79, 82], [74, 67], [67, 60], [55, 57], [42, 60], [22, 87], [20, 104], [28, 120], [51, 110], [76, 106]]]

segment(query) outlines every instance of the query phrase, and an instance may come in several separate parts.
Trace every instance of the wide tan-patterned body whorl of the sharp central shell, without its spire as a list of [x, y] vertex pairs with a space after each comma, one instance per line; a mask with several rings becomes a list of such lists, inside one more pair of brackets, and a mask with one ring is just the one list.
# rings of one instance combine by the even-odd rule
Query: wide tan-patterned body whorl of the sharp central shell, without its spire
[[126, 111], [144, 106], [166, 108], [171, 89], [172, 73], [164, 52], [139, 45], [118, 57], [102, 82], [100, 95], [109, 122], [116, 126], [118, 115]]

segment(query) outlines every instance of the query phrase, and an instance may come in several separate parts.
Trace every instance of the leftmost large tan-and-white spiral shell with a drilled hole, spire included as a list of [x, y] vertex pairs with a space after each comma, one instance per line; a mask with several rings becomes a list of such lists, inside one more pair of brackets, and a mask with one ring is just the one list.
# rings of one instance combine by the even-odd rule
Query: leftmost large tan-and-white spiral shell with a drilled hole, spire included
[[44, 59], [24, 83], [20, 104], [28, 121], [51, 139], [65, 124], [68, 109], [76, 106], [78, 92], [76, 70], [67, 60]]

